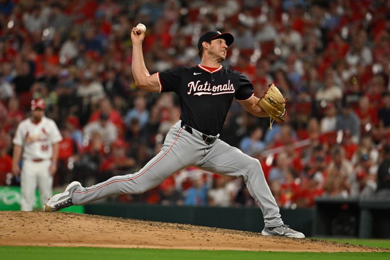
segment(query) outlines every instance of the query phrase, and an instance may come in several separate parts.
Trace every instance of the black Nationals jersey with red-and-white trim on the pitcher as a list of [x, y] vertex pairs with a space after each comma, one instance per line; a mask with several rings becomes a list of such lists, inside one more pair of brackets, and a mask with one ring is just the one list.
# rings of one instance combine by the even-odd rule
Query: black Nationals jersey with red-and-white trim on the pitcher
[[158, 73], [160, 92], [179, 96], [180, 119], [206, 135], [217, 135], [225, 122], [233, 98], [254, 95], [250, 80], [240, 72], [220, 66], [213, 72], [197, 65]]

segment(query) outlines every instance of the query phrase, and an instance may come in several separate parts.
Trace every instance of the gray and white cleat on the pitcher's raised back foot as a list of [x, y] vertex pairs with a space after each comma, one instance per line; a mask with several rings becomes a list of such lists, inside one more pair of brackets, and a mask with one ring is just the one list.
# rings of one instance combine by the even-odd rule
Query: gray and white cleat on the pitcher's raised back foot
[[58, 211], [63, 208], [67, 208], [73, 205], [72, 195], [78, 188], [82, 187], [78, 181], [71, 182], [64, 192], [54, 195], [45, 204], [45, 211]]

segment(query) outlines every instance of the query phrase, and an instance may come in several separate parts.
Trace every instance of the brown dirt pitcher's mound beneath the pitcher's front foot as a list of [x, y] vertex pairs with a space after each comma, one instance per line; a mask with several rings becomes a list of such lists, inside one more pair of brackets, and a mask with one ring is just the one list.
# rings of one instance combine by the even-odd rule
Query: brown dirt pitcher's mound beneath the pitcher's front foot
[[0, 211], [0, 245], [370, 252], [379, 248], [185, 224], [59, 212]]

